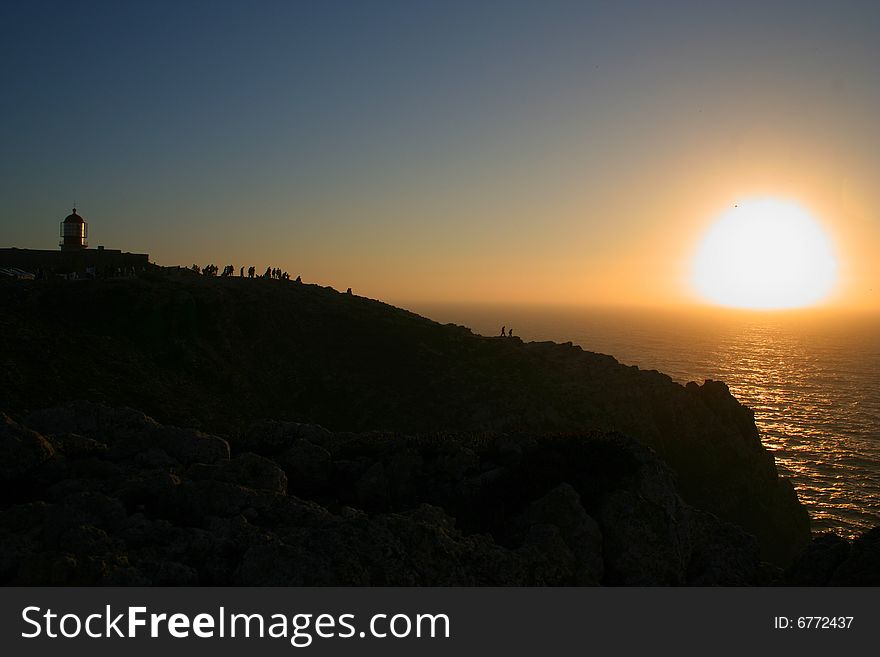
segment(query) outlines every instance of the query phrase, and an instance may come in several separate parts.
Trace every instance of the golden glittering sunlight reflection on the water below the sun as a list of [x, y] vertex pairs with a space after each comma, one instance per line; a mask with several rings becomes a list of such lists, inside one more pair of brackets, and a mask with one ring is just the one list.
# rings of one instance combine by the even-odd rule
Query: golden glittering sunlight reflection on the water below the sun
[[845, 363], [818, 353], [807, 338], [754, 324], [719, 345], [706, 378], [728, 382], [754, 410], [762, 441], [810, 509], [814, 531], [853, 535], [880, 519], [877, 409], [866, 408], [870, 400]]

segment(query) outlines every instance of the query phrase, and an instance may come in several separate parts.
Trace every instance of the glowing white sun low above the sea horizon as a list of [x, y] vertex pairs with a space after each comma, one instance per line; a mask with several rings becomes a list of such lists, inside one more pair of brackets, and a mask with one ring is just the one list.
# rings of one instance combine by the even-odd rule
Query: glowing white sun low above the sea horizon
[[830, 238], [803, 207], [779, 199], [737, 203], [701, 240], [691, 281], [710, 303], [775, 310], [815, 305], [837, 282]]

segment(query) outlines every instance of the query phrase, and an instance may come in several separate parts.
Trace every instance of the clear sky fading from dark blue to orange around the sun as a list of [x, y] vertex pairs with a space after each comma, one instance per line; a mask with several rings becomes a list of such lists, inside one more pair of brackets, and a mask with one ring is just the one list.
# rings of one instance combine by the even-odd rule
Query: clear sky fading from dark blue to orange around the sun
[[672, 305], [742, 199], [880, 309], [880, 3], [0, 5], [0, 246], [390, 301]]

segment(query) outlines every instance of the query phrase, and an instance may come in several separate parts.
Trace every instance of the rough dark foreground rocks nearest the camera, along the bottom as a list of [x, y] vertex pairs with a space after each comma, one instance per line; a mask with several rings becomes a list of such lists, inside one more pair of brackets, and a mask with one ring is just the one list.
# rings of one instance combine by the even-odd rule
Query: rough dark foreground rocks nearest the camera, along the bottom
[[78, 403], [7, 418], [2, 441], [3, 584], [743, 585], [766, 572], [754, 537], [683, 502], [668, 466], [620, 434], [261, 422], [227, 442]]

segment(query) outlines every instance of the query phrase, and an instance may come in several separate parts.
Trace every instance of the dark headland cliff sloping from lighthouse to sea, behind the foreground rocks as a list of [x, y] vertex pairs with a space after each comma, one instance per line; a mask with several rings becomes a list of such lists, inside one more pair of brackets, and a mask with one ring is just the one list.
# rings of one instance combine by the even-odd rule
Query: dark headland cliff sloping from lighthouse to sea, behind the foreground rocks
[[[0, 286], [0, 330], [5, 337], [0, 346], [0, 406], [43, 435], [46, 449], [54, 454], [49, 461], [68, 457], [46, 433], [85, 436], [111, 450], [114, 441], [89, 436], [79, 425], [46, 427], [30, 416], [72, 400], [142, 409], [159, 422], [192, 428], [181, 432], [200, 429], [223, 435], [233, 445], [245, 439], [239, 437], [251, 435], [255, 421], [266, 417], [318, 424], [332, 432], [433, 436], [441, 443], [444, 435], [454, 434], [456, 444], [466, 444], [463, 436], [468, 435], [627, 436], [618, 440], [634, 439], [650, 447], [668, 466], [667, 476], [676, 486], [673, 490], [680, 492], [684, 506], [691, 509], [689, 517], [712, 514], [724, 527], [729, 522], [742, 528], [757, 537], [762, 557], [777, 563], [790, 561], [809, 540], [807, 514], [761, 446], [751, 412], [722, 383], [683, 387], [657, 372], [625, 367], [610, 356], [571, 344], [485, 338], [370, 299], [282, 281], [155, 274], [125, 281], [6, 284]], [[298, 444], [300, 449], [311, 449]], [[389, 454], [399, 451], [399, 459], [404, 459], [408, 452], [401, 447], [403, 443], [393, 444]], [[317, 446], [333, 452], [325, 445]], [[193, 490], [217, 486], [217, 472], [239, 467], [205, 470], [214, 461], [203, 460], [208, 465], [192, 474], [189, 469], [198, 462], [175, 455], [176, 448], [167, 445], [156, 449], [171, 454], [181, 467], [186, 465], [186, 472], [172, 468], [168, 477], [179, 480], [174, 485]], [[273, 467], [285, 476], [289, 468], [296, 468], [295, 459], [283, 462], [287, 457], [280, 453], [248, 449], [260, 456], [247, 458], [282, 459]], [[376, 455], [370, 458], [375, 461], [370, 476], [381, 481], [388, 464]], [[349, 467], [348, 461], [359, 462], [333, 456], [333, 477], [343, 477], [340, 473]], [[561, 459], [546, 467], [565, 465]], [[482, 461], [472, 463], [468, 468], [476, 470], [465, 468], [461, 475], [485, 474], [480, 471], [483, 467]], [[527, 467], [520, 467], [516, 476], [529, 476]], [[597, 470], [588, 471], [595, 475]], [[531, 489], [532, 497], [516, 498], [517, 504], [537, 503], [555, 486], [565, 484], [568, 488], [556, 494], [570, 499], [576, 494], [583, 506], [589, 485], [582, 480], [577, 484], [576, 476], [566, 474], [557, 477], [554, 487], [547, 482], [540, 491]], [[370, 480], [367, 472], [358, 472], [356, 481], [364, 477], [365, 482]], [[334, 482], [355, 485], [354, 479], [344, 477]], [[362, 483], [360, 488], [368, 490], [369, 486]], [[515, 489], [498, 490], [515, 497]], [[611, 513], [608, 508], [624, 515], [628, 509], [639, 508], [644, 491], [638, 486], [624, 490], [629, 492], [618, 496], [617, 506], [602, 507], [603, 512], [588, 502], [587, 513], [601, 524], [602, 514]], [[290, 497], [284, 499], [290, 504]], [[332, 531], [355, 532], [358, 526], [355, 516], [334, 507], [337, 503], [371, 510], [392, 524], [420, 522], [412, 516], [416, 507], [381, 502], [382, 495], [370, 499], [369, 495], [364, 499], [342, 496], [328, 501], [330, 506], [322, 507], [325, 511], [339, 511], [333, 515], [337, 524], [332, 524]], [[477, 519], [468, 515], [471, 512], [465, 512], [473, 499], [466, 497], [467, 503], [459, 503], [427, 493], [411, 499], [429, 505], [418, 507], [425, 513], [443, 509], [456, 519], [460, 529], [445, 533], [449, 540], [482, 540], [474, 538], [482, 534], [469, 533], [483, 531]], [[526, 510], [517, 507], [514, 512]], [[144, 518], [153, 521], [146, 512]], [[493, 541], [500, 541], [492, 543], [492, 549], [515, 550], [525, 545], [517, 543], [518, 538], [505, 538], [513, 531], [509, 527], [499, 531], [497, 536], [490, 532]], [[531, 530], [522, 531], [527, 535]], [[684, 542], [694, 540], [689, 537]], [[625, 538], [620, 541], [621, 546], [627, 543]], [[661, 544], [665, 545], [656, 543]], [[513, 545], [518, 547], [510, 548]], [[678, 545], [673, 541], [666, 549], [681, 552]], [[691, 556], [680, 560], [685, 571], [695, 558], [687, 554]], [[612, 574], [602, 577], [614, 581], [618, 567], [604, 566], [607, 571], [603, 573]], [[693, 581], [681, 569], [675, 572], [669, 581]], [[622, 574], [619, 581], [638, 578]]]

